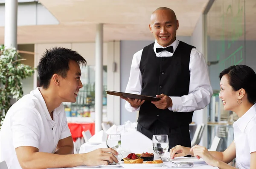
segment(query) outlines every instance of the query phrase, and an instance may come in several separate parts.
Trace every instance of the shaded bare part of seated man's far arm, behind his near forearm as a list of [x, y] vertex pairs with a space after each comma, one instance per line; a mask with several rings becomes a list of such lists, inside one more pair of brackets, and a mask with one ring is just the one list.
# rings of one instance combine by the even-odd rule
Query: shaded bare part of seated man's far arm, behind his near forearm
[[58, 141], [54, 154], [66, 155], [74, 154], [74, 144], [71, 136]]

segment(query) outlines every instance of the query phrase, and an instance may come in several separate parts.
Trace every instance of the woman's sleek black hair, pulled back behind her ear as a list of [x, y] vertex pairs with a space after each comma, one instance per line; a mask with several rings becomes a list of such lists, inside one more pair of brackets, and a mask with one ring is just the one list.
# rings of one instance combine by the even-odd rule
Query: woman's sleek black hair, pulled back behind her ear
[[243, 88], [250, 103], [256, 102], [256, 73], [246, 65], [230, 66], [220, 73], [220, 79], [226, 75], [234, 91]]

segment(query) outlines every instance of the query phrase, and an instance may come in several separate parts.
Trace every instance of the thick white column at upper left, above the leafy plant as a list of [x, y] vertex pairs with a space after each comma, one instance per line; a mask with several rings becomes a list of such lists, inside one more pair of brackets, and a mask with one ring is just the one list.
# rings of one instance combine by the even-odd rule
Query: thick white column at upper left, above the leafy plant
[[4, 45], [17, 49], [17, 0], [5, 1]]

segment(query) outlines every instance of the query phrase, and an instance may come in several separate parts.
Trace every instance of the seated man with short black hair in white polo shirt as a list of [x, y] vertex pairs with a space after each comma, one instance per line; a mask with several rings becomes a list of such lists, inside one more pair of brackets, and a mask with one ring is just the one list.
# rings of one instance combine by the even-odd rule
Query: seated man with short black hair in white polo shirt
[[[0, 131], [0, 161], [9, 169], [63, 168], [118, 162], [110, 148], [73, 154], [62, 102], [76, 102], [83, 87], [79, 65], [85, 59], [67, 48], [47, 50], [39, 64], [40, 86], [7, 112]], [[111, 152], [111, 153], [106, 153]]]

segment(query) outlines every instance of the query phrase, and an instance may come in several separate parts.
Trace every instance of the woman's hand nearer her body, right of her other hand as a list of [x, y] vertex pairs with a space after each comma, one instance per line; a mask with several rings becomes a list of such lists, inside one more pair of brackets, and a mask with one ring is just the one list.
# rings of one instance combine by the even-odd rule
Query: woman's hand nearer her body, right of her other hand
[[207, 164], [217, 166], [218, 160], [211, 155], [206, 147], [195, 145], [192, 146], [190, 152], [193, 152], [193, 156], [198, 159], [200, 159], [200, 157], [203, 158]]

